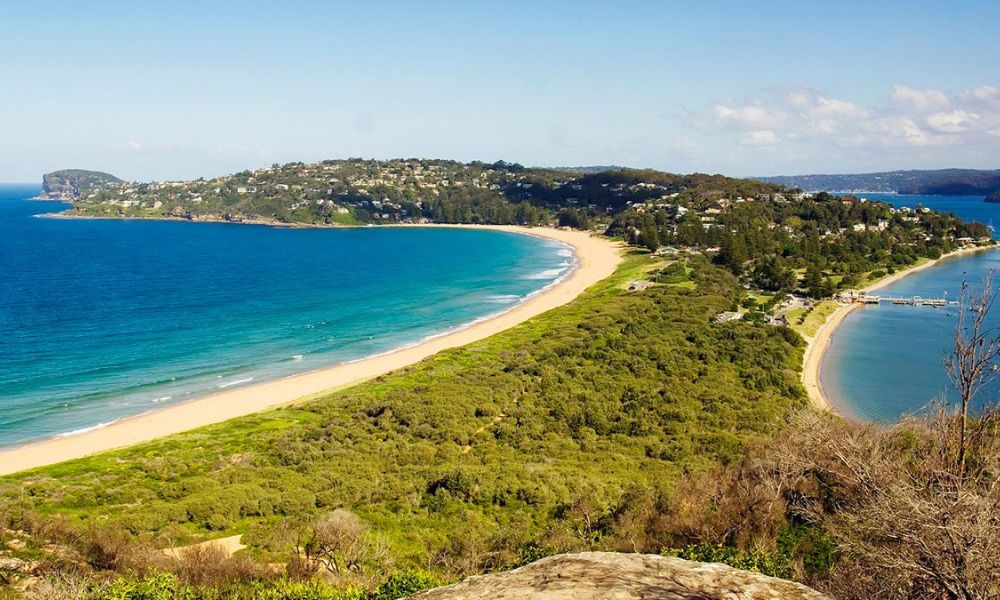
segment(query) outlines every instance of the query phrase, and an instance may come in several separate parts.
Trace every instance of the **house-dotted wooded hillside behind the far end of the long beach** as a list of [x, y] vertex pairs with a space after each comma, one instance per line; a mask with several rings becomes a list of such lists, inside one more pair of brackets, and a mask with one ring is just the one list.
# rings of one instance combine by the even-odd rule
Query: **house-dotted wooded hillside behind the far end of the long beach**
[[700, 206], [782, 189], [697, 173], [583, 172], [504, 161], [348, 159], [273, 165], [208, 180], [76, 189], [72, 210], [92, 217], [308, 225], [425, 220], [537, 225], [558, 220], [588, 229], [635, 204]]

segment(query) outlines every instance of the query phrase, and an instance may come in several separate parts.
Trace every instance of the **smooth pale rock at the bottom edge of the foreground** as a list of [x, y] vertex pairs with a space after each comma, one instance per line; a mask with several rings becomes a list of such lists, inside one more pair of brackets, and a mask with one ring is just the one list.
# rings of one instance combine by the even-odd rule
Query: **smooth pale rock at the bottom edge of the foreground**
[[803, 585], [654, 554], [583, 552], [543, 558], [530, 565], [482, 575], [412, 596], [419, 600], [828, 600]]

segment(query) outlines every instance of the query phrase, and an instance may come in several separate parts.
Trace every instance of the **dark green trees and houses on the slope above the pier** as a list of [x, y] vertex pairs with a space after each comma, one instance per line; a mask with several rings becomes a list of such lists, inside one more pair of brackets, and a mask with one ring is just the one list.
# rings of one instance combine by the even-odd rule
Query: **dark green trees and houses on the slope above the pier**
[[897, 213], [881, 202], [826, 193], [794, 202], [737, 203], [714, 211], [708, 222], [704, 216], [682, 214], [674, 205], [630, 209], [615, 217], [608, 233], [648, 248], [717, 247], [716, 263], [754, 287], [801, 288], [816, 298], [856, 285], [866, 273], [891, 273], [921, 257], [937, 258], [955, 248], [957, 238], [989, 236], [985, 226], [953, 215]]

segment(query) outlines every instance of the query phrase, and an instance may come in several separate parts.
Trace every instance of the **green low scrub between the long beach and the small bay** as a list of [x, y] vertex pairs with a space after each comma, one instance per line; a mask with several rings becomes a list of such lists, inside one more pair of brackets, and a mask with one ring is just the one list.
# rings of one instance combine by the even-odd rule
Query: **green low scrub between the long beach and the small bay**
[[[0, 508], [158, 546], [244, 533], [263, 561], [346, 509], [392, 568], [475, 572], [585, 548], [658, 551], [629, 515], [738, 460], [804, 405], [801, 340], [711, 323], [741, 294], [692, 258], [644, 292], [628, 257], [576, 301], [413, 367], [272, 410], [0, 480]], [[659, 277], [660, 275], [657, 274]], [[387, 563], [387, 564], [389, 564]]]

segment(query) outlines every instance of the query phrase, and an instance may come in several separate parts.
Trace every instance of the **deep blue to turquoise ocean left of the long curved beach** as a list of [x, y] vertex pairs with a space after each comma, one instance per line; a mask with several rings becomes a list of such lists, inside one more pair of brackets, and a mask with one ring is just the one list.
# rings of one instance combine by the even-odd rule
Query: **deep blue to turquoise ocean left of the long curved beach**
[[358, 359], [499, 311], [571, 251], [457, 229], [35, 218], [0, 185], [0, 445]]

